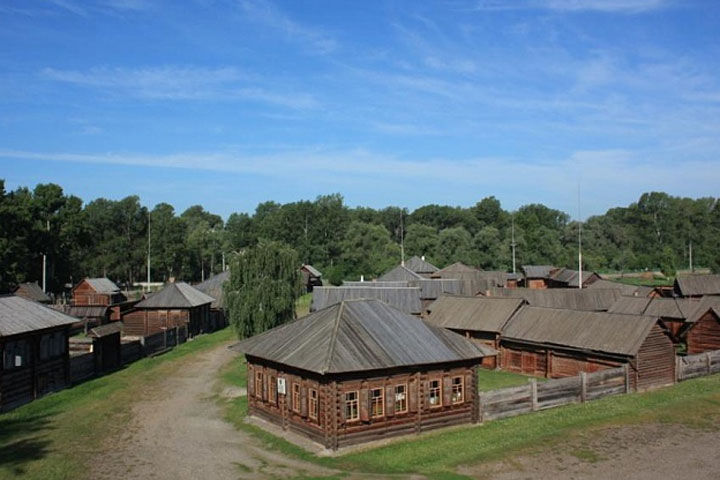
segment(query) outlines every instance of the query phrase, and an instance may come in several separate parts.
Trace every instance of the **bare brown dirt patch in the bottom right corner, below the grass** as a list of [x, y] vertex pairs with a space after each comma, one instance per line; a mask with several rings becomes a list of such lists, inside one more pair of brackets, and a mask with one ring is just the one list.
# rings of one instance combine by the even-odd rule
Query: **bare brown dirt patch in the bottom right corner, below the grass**
[[717, 479], [720, 432], [642, 425], [588, 432], [539, 453], [460, 473], [492, 480]]

